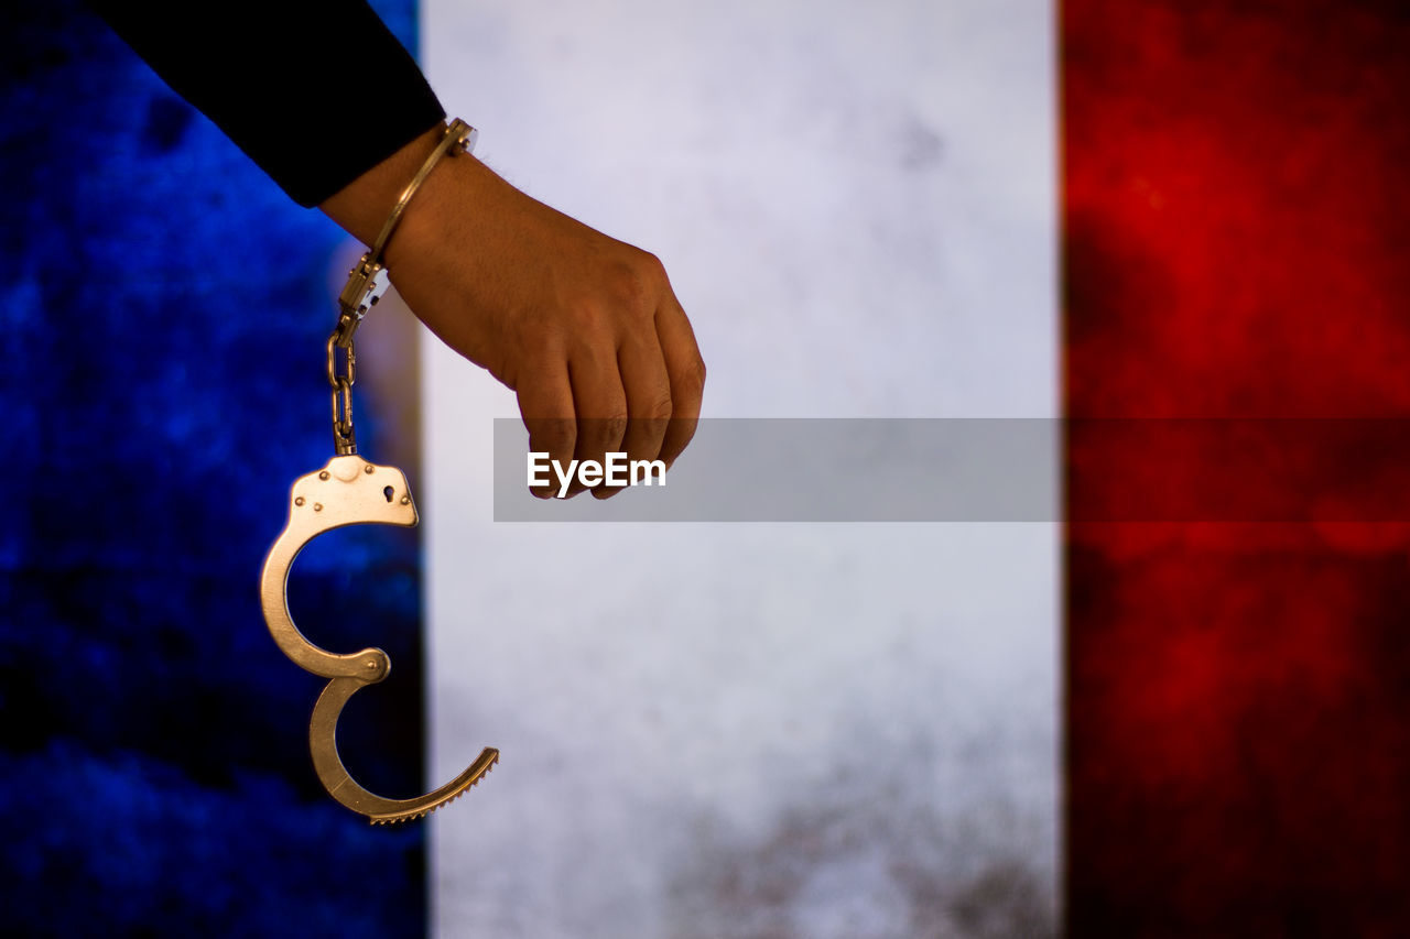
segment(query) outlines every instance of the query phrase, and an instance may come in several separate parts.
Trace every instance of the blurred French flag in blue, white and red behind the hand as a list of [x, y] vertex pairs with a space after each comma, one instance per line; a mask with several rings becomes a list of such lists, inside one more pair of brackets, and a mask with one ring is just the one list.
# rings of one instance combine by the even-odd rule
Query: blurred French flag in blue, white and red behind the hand
[[661, 257], [706, 422], [1052, 419], [1063, 510], [496, 522], [512, 395], [379, 305], [360, 437], [420, 536], [324, 536], [290, 606], [392, 656], [343, 720], [360, 782], [503, 759], [369, 828], [254, 589], [330, 453], [358, 248], [80, 7], [20, 13], [21, 935], [1410, 932], [1400, 6], [374, 6], [481, 158]]

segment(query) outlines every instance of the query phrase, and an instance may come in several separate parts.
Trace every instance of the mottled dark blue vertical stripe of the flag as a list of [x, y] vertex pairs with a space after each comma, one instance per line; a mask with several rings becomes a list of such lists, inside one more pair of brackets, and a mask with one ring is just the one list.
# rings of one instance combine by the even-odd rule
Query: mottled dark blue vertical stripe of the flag
[[[412, 3], [379, 7], [415, 39]], [[7, 27], [6, 929], [423, 935], [423, 828], [372, 829], [319, 788], [317, 682], [255, 592], [289, 482], [331, 455], [341, 234], [73, 0]], [[345, 757], [369, 788], [419, 792], [419, 546], [369, 529], [309, 554], [300, 625], [398, 665], [345, 719]]]

